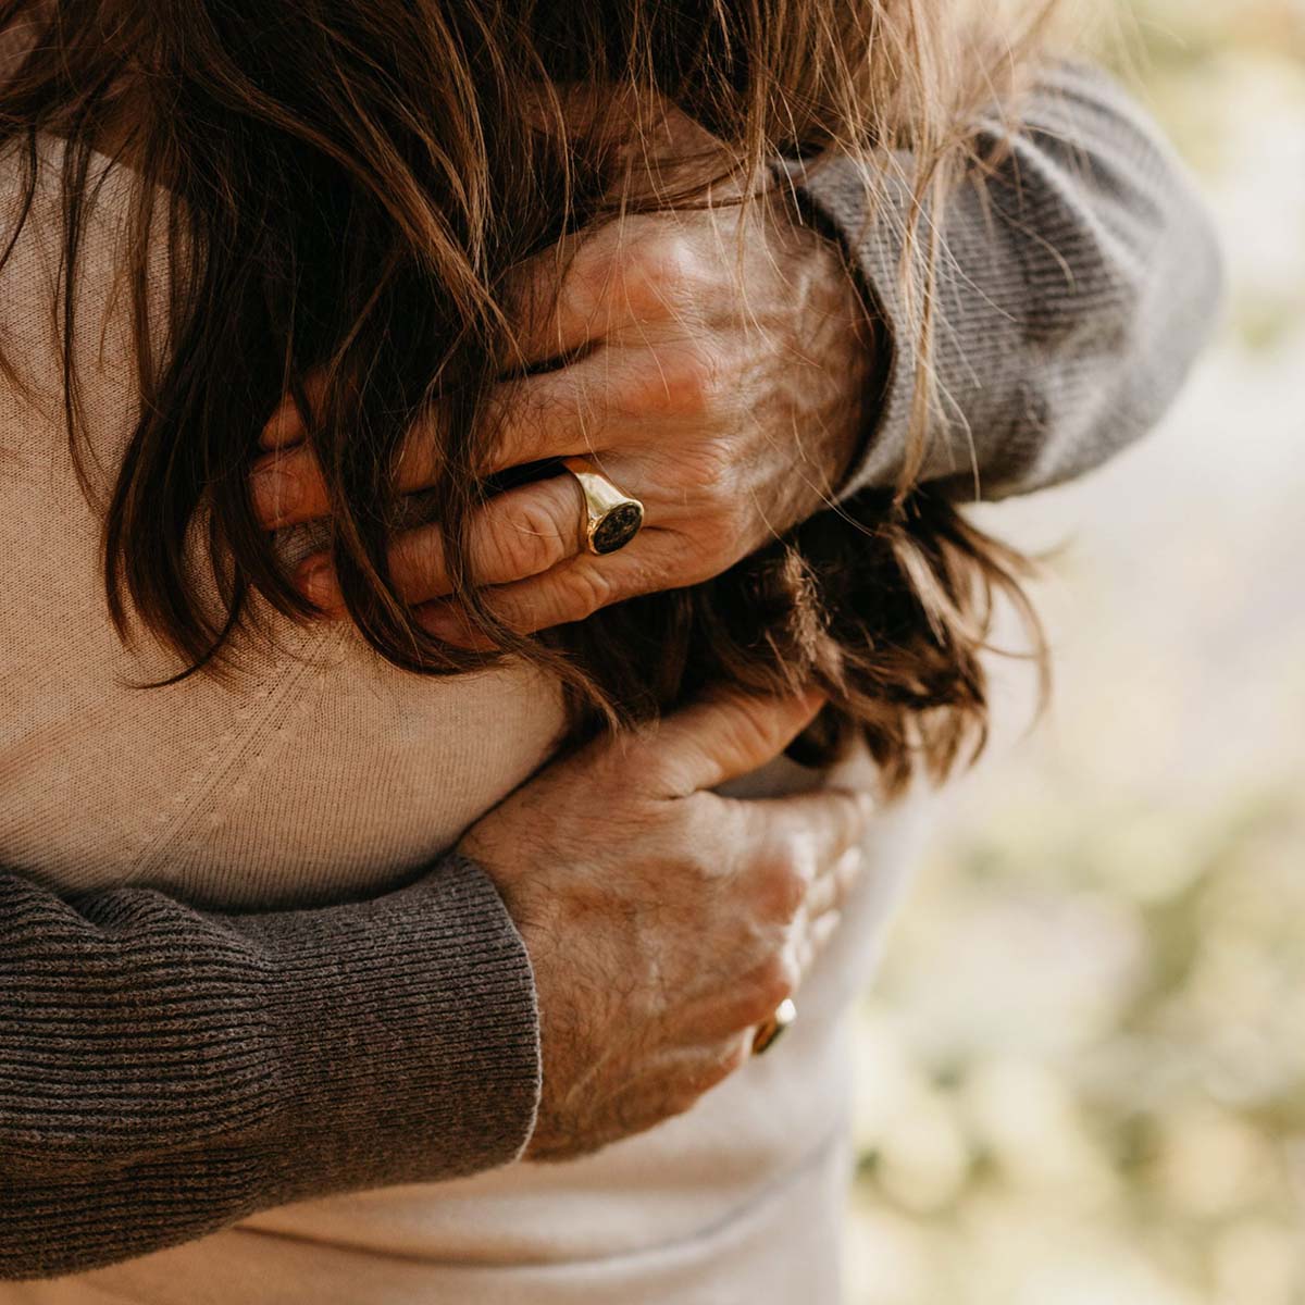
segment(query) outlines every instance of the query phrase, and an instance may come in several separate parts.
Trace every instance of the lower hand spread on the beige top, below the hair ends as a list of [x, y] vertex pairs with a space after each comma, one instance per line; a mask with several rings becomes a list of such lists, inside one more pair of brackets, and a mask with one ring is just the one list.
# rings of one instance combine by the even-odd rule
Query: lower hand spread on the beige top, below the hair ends
[[748, 1058], [833, 932], [869, 799], [707, 791], [776, 757], [818, 707], [720, 694], [556, 762], [462, 839], [535, 971], [544, 1087], [530, 1159], [686, 1111]]

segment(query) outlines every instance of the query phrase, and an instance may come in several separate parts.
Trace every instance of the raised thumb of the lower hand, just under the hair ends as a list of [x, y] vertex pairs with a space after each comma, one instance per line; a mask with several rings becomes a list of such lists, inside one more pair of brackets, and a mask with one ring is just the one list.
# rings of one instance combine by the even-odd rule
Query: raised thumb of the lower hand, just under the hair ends
[[660, 723], [649, 761], [668, 797], [715, 788], [778, 757], [823, 705], [813, 689], [788, 697], [718, 689]]

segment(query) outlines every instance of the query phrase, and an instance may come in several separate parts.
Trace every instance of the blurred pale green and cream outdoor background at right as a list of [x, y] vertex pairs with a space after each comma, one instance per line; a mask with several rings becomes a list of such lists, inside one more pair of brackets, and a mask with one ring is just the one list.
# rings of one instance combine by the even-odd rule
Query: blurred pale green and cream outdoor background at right
[[1151, 438], [984, 517], [1057, 549], [1056, 688], [859, 1011], [851, 1305], [1305, 1302], [1305, 0], [1122, 26], [1229, 311]]

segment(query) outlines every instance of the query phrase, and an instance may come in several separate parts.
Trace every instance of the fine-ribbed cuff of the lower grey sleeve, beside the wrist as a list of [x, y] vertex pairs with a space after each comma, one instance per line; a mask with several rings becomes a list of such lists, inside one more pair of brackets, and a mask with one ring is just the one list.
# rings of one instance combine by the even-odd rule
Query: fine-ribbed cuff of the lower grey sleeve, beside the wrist
[[294, 1199], [515, 1159], [539, 1103], [539, 1019], [485, 873], [453, 856], [375, 902], [296, 915], [260, 921], [286, 934], [273, 1186]]

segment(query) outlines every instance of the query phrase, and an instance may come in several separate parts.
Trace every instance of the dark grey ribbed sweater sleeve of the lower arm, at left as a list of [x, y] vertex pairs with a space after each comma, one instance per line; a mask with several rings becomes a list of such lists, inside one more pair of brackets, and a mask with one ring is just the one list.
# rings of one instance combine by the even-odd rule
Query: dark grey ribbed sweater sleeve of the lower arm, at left
[[0, 1278], [504, 1164], [539, 1086], [525, 946], [461, 857], [265, 915], [0, 874]]

